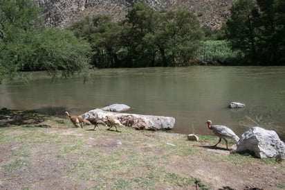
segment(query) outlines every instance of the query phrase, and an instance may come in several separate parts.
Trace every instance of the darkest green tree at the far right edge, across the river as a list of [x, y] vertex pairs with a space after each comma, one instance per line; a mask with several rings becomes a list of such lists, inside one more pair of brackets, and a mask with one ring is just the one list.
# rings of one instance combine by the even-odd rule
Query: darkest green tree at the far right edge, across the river
[[259, 57], [270, 64], [281, 64], [285, 58], [285, 2], [257, 0], [259, 12]]

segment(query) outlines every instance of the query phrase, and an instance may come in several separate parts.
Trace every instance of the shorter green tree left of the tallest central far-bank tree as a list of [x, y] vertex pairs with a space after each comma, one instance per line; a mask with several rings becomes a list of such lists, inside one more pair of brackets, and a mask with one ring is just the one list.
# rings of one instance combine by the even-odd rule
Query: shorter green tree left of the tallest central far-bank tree
[[95, 67], [120, 67], [121, 28], [107, 15], [94, 15], [76, 22], [69, 29], [91, 44]]

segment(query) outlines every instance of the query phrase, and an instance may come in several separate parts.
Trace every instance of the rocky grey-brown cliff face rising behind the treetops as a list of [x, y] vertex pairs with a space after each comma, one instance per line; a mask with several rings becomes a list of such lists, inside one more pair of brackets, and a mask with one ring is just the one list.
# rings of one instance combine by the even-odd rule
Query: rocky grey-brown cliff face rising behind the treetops
[[104, 14], [119, 20], [134, 3], [144, 1], [154, 10], [192, 10], [201, 25], [220, 28], [237, 0], [34, 0], [43, 9], [47, 26], [66, 27], [82, 17]]

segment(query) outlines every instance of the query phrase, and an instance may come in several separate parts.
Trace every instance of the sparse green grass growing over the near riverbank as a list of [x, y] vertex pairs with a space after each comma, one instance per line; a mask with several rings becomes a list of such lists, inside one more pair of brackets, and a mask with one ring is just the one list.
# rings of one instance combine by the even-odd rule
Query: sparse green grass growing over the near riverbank
[[[201, 146], [216, 144], [219, 138], [213, 135], [199, 135], [199, 142], [187, 141], [186, 135], [173, 138], [160, 136], [158, 132], [138, 131], [131, 128], [119, 128], [121, 132], [105, 130], [93, 131], [93, 126], [74, 128], [68, 119], [57, 123], [56, 118], [48, 121], [53, 129], [19, 126], [0, 128], [0, 143], [15, 148], [10, 155], [12, 162], [1, 164], [6, 172], [17, 172], [23, 167], [33, 170], [33, 152], [35, 147], [44, 147], [43, 153], [51, 158], [68, 162], [68, 173], [64, 179], [86, 182], [87, 189], [159, 189], [163, 187], [191, 189], [211, 189], [209, 184], [191, 175], [171, 171], [173, 159], [177, 161], [192, 156], [203, 156], [213, 162], [261, 162], [278, 168], [273, 159], [255, 159], [240, 154], [221, 157], [211, 151], [201, 151]], [[229, 146], [234, 144], [229, 141]], [[172, 146], [171, 144], [175, 145]], [[219, 146], [226, 148], [222, 141]], [[202, 148], [203, 150], [203, 148]], [[41, 151], [42, 153], [42, 151]], [[258, 161], [257, 161], [258, 160]], [[3, 162], [4, 163], [4, 162]], [[170, 166], [167, 168], [167, 166]], [[37, 184], [26, 184], [23, 189], [31, 189]], [[284, 184], [279, 184], [284, 187]]]

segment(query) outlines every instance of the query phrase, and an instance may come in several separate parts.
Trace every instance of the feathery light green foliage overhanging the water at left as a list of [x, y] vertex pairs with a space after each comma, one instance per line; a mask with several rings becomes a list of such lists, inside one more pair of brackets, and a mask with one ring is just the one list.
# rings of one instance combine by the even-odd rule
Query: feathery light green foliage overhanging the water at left
[[68, 77], [88, 66], [89, 44], [70, 31], [45, 28], [33, 1], [1, 1], [0, 15], [0, 81], [23, 81], [20, 71], [34, 70]]

